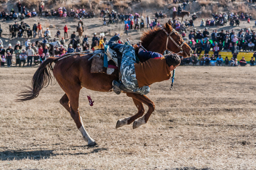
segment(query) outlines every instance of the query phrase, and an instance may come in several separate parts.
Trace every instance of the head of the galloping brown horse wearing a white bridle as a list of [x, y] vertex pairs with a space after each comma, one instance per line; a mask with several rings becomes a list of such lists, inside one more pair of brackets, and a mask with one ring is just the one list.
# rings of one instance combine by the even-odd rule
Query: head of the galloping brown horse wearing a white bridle
[[179, 54], [180, 56], [186, 58], [191, 57], [193, 50], [189, 45], [183, 40], [182, 36], [172, 28], [172, 24], [166, 23], [163, 27], [163, 32], [165, 34], [166, 48], [173, 53]]

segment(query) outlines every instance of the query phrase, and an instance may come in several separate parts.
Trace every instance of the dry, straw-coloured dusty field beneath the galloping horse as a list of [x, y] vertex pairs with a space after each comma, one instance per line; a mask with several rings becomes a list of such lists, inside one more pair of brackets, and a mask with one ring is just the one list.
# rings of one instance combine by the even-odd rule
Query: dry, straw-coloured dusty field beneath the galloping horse
[[256, 169], [256, 67], [179, 67], [174, 91], [168, 81], [152, 85], [156, 110], [136, 130], [115, 129], [137, 112], [130, 98], [82, 89], [79, 109], [96, 147], [85, 146], [58, 103], [58, 84], [32, 101], [13, 101], [35, 70], [0, 69], [0, 169]]

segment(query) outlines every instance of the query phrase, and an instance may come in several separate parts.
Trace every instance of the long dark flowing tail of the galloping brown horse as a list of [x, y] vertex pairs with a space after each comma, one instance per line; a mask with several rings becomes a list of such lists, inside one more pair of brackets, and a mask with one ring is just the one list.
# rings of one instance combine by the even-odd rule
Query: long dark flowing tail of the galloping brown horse
[[56, 62], [58, 59], [59, 58], [57, 57], [49, 57], [48, 59], [44, 60], [33, 76], [31, 82], [32, 87], [25, 86], [28, 89], [18, 95], [20, 99], [17, 99], [16, 102], [35, 99], [39, 95], [42, 88], [46, 88], [50, 83], [52, 83], [52, 62]]

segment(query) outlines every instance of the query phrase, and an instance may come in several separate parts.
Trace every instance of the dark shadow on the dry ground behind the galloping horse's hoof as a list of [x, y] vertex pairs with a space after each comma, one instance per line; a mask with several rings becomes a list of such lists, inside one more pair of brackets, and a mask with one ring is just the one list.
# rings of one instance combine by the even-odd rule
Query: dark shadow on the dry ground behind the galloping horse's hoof
[[[71, 147], [69, 149], [61, 149], [61, 150], [76, 150], [76, 146]], [[68, 155], [88, 155], [90, 153], [98, 153], [103, 150], [108, 150], [107, 148], [95, 148], [90, 152], [78, 152], [78, 153], [68, 153]], [[56, 150], [47, 150], [47, 149], [41, 149], [41, 150], [33, 150], [33, 151], [28, 151], [28, 149], [24, 150], [6, 150], [0, 152], [0, 159], [2, 161], [7, 161], [7, 160], [21, 160], [21, 159], [49, 159], [52, 156], [59, 156], [59, 155], [67, 155], [67, 153], [55, 153]]]

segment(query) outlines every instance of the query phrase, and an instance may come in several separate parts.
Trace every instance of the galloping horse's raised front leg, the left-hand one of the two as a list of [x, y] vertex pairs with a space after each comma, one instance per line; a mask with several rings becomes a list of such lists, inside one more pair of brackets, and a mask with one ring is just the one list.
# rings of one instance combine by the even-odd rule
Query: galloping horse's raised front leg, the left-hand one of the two
[[134, 101], [134, 104], [136, 105], [136, 107], [138, 109], [138, 113], [135, 114], [134, 116], [131, 116], [131, 117], [127, 117], [127, 118], [124, 118], [124, 119], [119, 119], [116, 122], [116, 128], [122, 127], [124, 125], [130, 125], [132, 122], [134, 122], [134, 120], [136, 120], [139, 117], [143, 116], [143, 114], [145, 112], [145, 109], [144, 109], [144, 106], [143, 106], [142, 102], [139, 102], [136, 99], [133, 99], [133, 101]]

